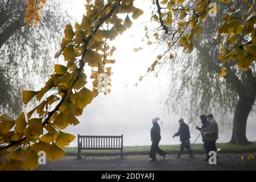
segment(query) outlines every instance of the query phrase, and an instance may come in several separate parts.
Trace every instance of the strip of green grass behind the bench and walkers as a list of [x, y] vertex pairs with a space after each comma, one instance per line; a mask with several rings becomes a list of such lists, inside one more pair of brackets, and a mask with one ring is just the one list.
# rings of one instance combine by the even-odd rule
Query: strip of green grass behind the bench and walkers
[[[221, 149], [221, 153], [243, 153], [243, 152], [255, 152], [256, 151], [256, 142], [248, 146], [237, 146], [229, 143], [217, 143], [217, 148]], [[179, 151], [179, 144], [175, 145], [160, 145], [162, 150], [167, 154], [176, 154]], [[192, 150], [195, 154], [204, 153], [203, 144], [194, 144]], [[77, 147], [65, 147], [64, 151], [67, 155], [77, 155]], [[124, 155], [144, 155], [148, 154], [150, 151], [150, 146], [129, 146], [123, 147]], [[119, 154], [120, 151], [113, 150], [82, 150], [82, 154]]]

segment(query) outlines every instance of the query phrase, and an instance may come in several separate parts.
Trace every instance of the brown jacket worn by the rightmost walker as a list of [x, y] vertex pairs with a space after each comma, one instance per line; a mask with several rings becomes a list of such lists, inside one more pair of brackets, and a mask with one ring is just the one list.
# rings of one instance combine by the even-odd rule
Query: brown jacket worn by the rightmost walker
[[207, 127], [202, 130], [205, 134], [205, 141], [216, 141], [218, 139], [218, 123], [213, 119], [209, 122]]

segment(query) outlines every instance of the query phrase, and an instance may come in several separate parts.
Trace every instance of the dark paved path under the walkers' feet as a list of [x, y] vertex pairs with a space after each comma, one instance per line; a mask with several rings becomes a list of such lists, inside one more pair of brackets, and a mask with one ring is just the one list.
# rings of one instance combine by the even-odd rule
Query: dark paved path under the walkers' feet
[[203, 155], [196, 155], [196, 158], [181, 159], [168, 155], [166, 159], [158, 156], [157, 162], [148, 162], [147, 156], [125, 156], [119, 159], [118, 156], [109, 158], [85, 158], [77, 160], [75, 156], [65, 156], [56, 162], [48, 162], [39, 166], [38, 170], [256, 170], [256, 155], [250, 160], [240, 161], [243, 154], [222, 154], [218, 159], [218, 165], [210, 166], [203, 161]]

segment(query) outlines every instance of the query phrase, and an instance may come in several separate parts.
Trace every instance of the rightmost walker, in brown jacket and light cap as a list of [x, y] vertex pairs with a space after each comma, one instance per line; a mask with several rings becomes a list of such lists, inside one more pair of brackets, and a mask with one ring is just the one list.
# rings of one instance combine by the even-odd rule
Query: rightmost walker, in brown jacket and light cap
[[[207, 153], [207, 159], [204, 159], [205, 161], [208, 161], [210, 156], [210, 151], [216, 151], [216, 140], [218, 139], [218, 123], [213, 118], [212, 114], [207, 115], [208, 125], [205, 129], [201, 130], [203, 132], [204, 141], [205, 141], [205, 148]], [[218, 158], [218, 156], [217, 156]]]

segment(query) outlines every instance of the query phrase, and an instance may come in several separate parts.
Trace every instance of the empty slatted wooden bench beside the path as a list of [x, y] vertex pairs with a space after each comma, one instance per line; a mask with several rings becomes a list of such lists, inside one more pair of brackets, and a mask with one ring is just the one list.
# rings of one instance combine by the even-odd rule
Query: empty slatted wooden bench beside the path
[[77, 159], [81, 150], [121, 150], [123, 158], [123, 135], [121, 136], [85, 136], [77, 135]]

